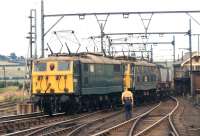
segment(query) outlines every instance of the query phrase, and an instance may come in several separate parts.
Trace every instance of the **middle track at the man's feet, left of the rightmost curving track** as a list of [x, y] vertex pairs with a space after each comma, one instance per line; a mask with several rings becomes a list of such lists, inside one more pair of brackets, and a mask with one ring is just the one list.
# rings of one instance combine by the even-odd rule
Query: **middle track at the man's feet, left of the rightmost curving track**
[[[141, 114], [147, 109], [149, 109], [150, 106], [145, 106], [142, 108], [139, 108], [139, 110], [135, 110], [134, 113]], [[105, 114], [105, 113], [104, 113]], [[119, 124], [121, 122], [124, 122], [124, 113], [123, 111], [118, 112], [111, 112], [107, 115], [93, 115], [89, 118], [85, 119], [79, 119], [77, 121], [67, 121], [67, 122], [60, 122], [56, 123], [52, 126], [43, 127], [41, 130], [33, 132], [32, 134], [29, 134], [27, 136], [35, 136], [35, 135], [43, 135], [43, 136], [55, 136], [55, 135], [68, 135], [68, 136], [84, 136], [84, 135], [91, 135], [92, 133], [99, 131], [99, 127], [104, 129], [107, 128], [109, 125], [113, 124]], [[98, 128], [95, 129], [95, 128]]]

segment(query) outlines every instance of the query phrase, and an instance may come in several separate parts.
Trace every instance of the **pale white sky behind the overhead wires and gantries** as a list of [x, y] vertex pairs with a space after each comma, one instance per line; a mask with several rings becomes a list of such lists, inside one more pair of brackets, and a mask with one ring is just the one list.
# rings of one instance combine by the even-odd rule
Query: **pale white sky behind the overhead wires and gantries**
[[[38, 55], [40, 55], [40, 0], [3, 0], [0, 4], [0, 54], [9, 55], [15, 52], [18, 56], [27, 56], [29, 41], [26, 39], [30, 29], [28, 16], [30, 9], [37, 10], [38, 28]], [[198, 0], [44, 0], [45, 14], [56, 13], [81, 13], [81, 12], [120, 12], [120, 11], [158, 11], [158, 10], [200, 10]], [[200, 22], [200, 14], [192, 14]], [[105, 18], [104, 16], [99, 17]], [[142, 18], [149, 18], [148, 15]], [[57, 18], [45, 19], [45, 30], [47, 30]], [[153, 15], [148, 31], [188, 31], [189, 16], [185, 14], [175, 15]], [[145, 22], [147, 23], [147, 22]], [[60, 43], [53, 31], [74, 30], [76, 37], [81, 43], [80, 51], [87, 47], [93, 50], [94, 43], [87, 38], [100, 34], [95, 17], [86, 17], [79, 20], [78, 17], [64, 18], [45, 37], [45, 45], [48, 42], [55, 52], [60, 50]], [[199, 33], [200, 26], [192, 20], [192, 32]], [[138, 15], [131, 15], [129, 19], [121, 16], [111, 16], [105, 27], [105, 32], [143, 32], [144, 27]], [[61, 41], [66, 42], [72, 51], [78, 48], [78, 42], [70, 33], [60, 33]], [[120, 37], [113, 37], [113, 39]], [[129, 37], [130, 38], [130, 37]], [[149, 41], [171, 42], [173, 36], [153, 36]], [[140, 37], [131, 37], [130, 42], [142, 42]], [[192, 38], [193, 50], [197, 50], [197, 36]], [[119, 42], [119, 41], [116, 41]], [[120, 41], [121, 42], [121, 41]], [[95, 44], [99, 44], [96, 40]], [[128, 49], [126, 45], [122, 45]], [[176, 36], [176, 58], [182, 50], [188, 47], [187, 36]], [[119, 47], [116, 47], [119, 48]], [[133, 47], [135, 50], [141, 47]], [[149, 48], [149, 47], [147, 47]], [[115, 50], [121, 50], [115, 49]], [[186, 50], [183, 50], [186, 52]], [[63, 52], [66, 49], [63, 47]], [[45, 52], [48, 54], [49, 52]], [[167, 57], [165, 57], [167, 56]], [[158, 45], [154, 47], [154, 57], [158, 60], [172, 59], [171, 45]], [[164, 58], [163, 58], [164, 57]]]

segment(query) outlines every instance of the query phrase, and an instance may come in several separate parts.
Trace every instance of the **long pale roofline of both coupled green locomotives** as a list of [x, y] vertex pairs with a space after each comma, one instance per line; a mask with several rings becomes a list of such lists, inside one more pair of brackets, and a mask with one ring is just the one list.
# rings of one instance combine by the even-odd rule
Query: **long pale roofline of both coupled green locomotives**
[[121, 64], [121, 63], [134, 63], [135, 65], [145, 65], [145, 66], [156, 66], [153, 63], [148, 63], [146, 61], [139, 61], [139, 60], [122, 60], [122, 59], [116, 59], [116, 58], [110, 58], [105, 57], [103, 55], [99, 54], [93, 54], [93, 53], [86, 53], [82, 55], [73, 55], [73, 56], [49, 56], [47, 58], [40, 58], [35, 60], [36, 61], [61, 61], [61, 60], [68, 60], [68, 61], [74, 61], [74, 60], [80, 60], [82, 63], [96, 63], [96, 64]]

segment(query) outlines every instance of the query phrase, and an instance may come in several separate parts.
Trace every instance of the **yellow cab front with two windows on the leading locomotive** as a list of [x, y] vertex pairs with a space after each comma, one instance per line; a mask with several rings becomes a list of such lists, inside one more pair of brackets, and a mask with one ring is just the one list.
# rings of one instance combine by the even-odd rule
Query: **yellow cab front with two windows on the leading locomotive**
[[73, 93], [72, 61], [35, 61], [32, 94]]

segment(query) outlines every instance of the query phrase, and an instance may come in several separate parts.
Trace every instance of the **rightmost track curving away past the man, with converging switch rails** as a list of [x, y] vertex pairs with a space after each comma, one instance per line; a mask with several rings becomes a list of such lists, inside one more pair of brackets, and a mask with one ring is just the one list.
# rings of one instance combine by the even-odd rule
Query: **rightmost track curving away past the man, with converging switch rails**
[[[175, 101], [173, 102], [174, 103], [173, 105], [175, 105], [173, 107], [171, 105], [172, 101], [163, 102], [153, 107], [152, 109], [148, 110], [147, 112], [141, 115], [138, 115], [135, 118], [132, 118], [116, 126], [105, 129], [101, 132], [95, 133], [92, 136], [153, 135], [151, 132], [153, 132], [154, 134], [158, 133], [159, 135], [161, 133], [157, 132], [158, 129], [155, 129], [155, 128], [157, 128], [159, 124], [165, 121], [167, 121], [168, 123], [165, 122], [162, 125], [167, 125], [168, 130], [164, 130], [165, 132], [167, 131], [167, 135], [171, 134], [171, 135], [178, 136], [177, 130], [175, 129], [173, 125], [171, 116], [174, 113], [174, 111], [177, 109], [177, 107], [179, 106], [179, 102], [175, 98], [173, 98], [173, 100]], [[165, 135], [165, 134], [162, 133], [161, 135]]]

